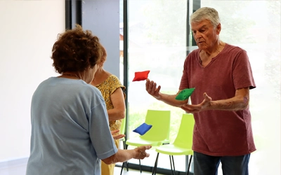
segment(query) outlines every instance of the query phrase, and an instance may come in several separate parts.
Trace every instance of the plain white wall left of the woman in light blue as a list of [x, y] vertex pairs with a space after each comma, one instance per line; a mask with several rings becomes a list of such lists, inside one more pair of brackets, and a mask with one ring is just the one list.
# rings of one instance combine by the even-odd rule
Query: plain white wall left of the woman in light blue
[[0, 162], [30, 155], [30, 102], [57, 76], [51, 49], [65, 30], [64, 0], [0, 0]]

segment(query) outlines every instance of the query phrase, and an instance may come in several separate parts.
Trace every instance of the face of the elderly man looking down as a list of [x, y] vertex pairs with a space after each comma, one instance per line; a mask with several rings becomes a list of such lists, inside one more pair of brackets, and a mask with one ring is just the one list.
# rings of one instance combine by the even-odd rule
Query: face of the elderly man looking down
[[191, 22], [191, 29], [198, 48], [208, 50], [218, 41], [221, 24], [214, 28], [209, 20], [202, 20], [201, 22]]

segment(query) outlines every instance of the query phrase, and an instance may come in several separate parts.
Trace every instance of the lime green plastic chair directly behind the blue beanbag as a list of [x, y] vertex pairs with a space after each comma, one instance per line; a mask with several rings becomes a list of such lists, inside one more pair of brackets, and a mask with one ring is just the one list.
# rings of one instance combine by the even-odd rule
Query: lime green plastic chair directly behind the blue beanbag
[[[160, 111], [148, 109], [145, 123], [152, 125], [151, 129], [139, 137], [126, 140], [128, 146], [159, 146], [169, 144], [171, 111]], [[141, 171], [141, 160], [139, 160]], [[142, 172], [142, 171], [141, 171]]]

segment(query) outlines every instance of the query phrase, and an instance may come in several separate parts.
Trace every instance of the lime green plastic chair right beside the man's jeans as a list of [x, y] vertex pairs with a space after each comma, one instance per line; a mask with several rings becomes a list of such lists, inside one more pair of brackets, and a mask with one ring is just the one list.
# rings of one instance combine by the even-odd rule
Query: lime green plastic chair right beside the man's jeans
[[159, 153], [169, 155], [172, 174], [176, 174], [173, 155], [190, 155], [190, 160], [188, 162], [188, 172], [187, 172], [187, 174], [189, 174], [190, 162], [192, 160], [192, 155], [193, 155], [192, 135], [193, 135], [194, 124], [195, 121], [193, 115], [190, 113], [184, 113], [174, 143], [161, 145], [155, 148], [155, 151], [157, 152], [157, 158], [155, 160], [155, 167], [152, 170], [152, 175], [156, 174]]

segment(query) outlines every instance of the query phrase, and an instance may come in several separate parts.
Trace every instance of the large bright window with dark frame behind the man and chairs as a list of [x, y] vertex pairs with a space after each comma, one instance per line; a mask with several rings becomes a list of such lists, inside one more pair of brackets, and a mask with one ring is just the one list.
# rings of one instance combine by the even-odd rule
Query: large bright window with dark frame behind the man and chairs
[[[173, 141], [183, 111], [158, 102], [145, 91], [145, 81], [132, 82], [135, 71], [150, 70], [148, 78], [161, 92], [178, 91], [187, 53], [187, 13], [197, 1], [135, 0], [128, 3], [128, 104], [129, 137], [143, 123], [147, 109], [171, 110]], [[250, 91], [252, 127], [257, 151], [251, 154], [250, 174], [280, 174], [280, 1], [210, 1], [200, 6], [216, 8], [221, 17], [222, 41], [247, 50], [256, 89]], [[218, 143], [219, 144], [219, 143]], [[153, 166], [155, 151], [142, 165]], [[169, 158], [160, 155], [158, 167], [169, 169]], [[185, 171], [184, 156], [176, 169]], [[131, 160], [138, 164], [138, 161]], [[221, 172], [220, 172], [221, 174]]]

